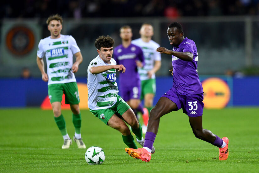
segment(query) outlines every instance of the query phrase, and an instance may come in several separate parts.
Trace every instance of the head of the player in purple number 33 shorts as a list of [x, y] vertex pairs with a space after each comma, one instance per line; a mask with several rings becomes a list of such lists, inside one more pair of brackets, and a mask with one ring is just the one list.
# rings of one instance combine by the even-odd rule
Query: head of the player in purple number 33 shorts
[[168, 28], [167, 35], [172, 46], [178, 46], [183, 41], [183, 32], [176, 27]]

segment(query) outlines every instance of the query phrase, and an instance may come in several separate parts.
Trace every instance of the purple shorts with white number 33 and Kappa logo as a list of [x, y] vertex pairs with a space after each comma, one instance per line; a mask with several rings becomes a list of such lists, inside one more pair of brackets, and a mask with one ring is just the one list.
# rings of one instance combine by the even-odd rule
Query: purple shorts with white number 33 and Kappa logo
[[174, 87], [168, 90], [161, 97], [169, 98], [179, 109], [183, 109], [183, 113], [191, 117], [202, 116], [203, 112], [203, 93], [194, 95], [185, 95], [178, 92]]

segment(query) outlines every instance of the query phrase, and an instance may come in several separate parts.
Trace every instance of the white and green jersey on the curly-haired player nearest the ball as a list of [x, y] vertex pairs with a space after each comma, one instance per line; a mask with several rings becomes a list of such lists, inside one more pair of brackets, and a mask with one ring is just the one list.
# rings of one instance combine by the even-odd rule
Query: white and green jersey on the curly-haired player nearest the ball
[[89, 71], [91, 67], [101, 65], [116, 65], [116, 61], [112, 58], [111, 64], [107, 64], [98, 55], [88, 66], [88, 107], [92, 110], [107, 109], [117, 102], [116, 96], [119, 90], [116, 83], [116, 70], [111, 69], [99, 74], [92, 74]]

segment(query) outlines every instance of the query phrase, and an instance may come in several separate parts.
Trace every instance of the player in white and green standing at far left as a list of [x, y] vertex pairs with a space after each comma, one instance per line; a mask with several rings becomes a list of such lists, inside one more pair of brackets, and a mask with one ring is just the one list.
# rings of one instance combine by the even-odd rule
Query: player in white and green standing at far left
[[[61, 34], [62, 17], [58, 14], [47, 19], [50, 36], [40, 40], [37, 52], [37, 64], [42, 74], [42, 80], [48, 81], [48, 94], [54, 113], [54, 119], [64, 138], [62, 149], [69, 148], [72, 140], [67, 134], [66, 122], [61, 113], [62, 95], [65, 94], [65, 103], [70, 104], [72, 120], [75, 127], [73, 140], [78, 148], [85, 148], [81, 138], [81, 113], [79, 110], [79, 93], [74, 73], [83, 61], [82, 54], [72, 36]], [[73, 63], [73, 55], [76, 57]], [[44, 69], [43, 57], [46, 57], [47, 74]]]

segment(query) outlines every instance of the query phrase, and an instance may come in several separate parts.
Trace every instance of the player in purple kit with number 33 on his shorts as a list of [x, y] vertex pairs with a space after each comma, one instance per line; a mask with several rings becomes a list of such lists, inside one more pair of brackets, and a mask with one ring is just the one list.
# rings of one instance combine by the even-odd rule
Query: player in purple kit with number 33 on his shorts
[[184, 38], [181, 24], [173, 22], [168, 26], [167, 35], [173, 50], [158, 47], [157, 52], [172, 55], [173, 87], [167, 91], [151, 110], [144, 147], [125, 148], [133, 158], [149, 162], [151, 149], [158, 132], [159, 120], [165, 114], [183, 109], [189, 116], [189, 122], [195, 137], [219, 147], [219, 160], [228, 158], [229, 139], [220, 139], [211, 131], [202, 128], [203, 89], [197, 73], [198, 53], [194, 41]]

